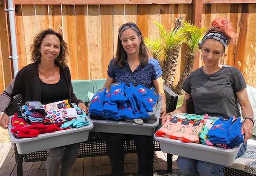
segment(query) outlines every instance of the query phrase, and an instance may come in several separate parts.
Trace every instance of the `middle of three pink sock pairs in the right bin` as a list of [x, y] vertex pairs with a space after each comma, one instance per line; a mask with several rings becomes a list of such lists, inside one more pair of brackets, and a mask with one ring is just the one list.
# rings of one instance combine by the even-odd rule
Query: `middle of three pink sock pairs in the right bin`
[[188, 129], [192, 127], [192, 125], [192, 120], [183, 119], [181, 124], [177, 124], [177, 128], [175, 128], [175, 131], [172, 133], [171, 136], [169, 136], [169, 138], [181, 140], [188, 132]]

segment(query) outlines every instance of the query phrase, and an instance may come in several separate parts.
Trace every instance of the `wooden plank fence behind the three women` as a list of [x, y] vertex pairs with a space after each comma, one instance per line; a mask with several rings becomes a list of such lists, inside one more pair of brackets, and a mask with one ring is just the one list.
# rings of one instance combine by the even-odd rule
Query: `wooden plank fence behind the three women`
[[[135, 0], [134, 2], [137, 1], [142, 2], [141, 0]], [[109, 61], [116, 52], [118, 28], [123, 23], [137, 23], [144, 37], [157, 37], [158, 31], [152, 20], [162, 23], [170, 30], [174, 26], [172, 21], [180, 14], [190, 21], [197, 18], [195, 9], [193, 13], [195, 4], [193, 5], [188, 0], [172, 4], [163, 4], [167, 3], [167, 1], [163, 1], [161, 4], [126, 3], [121, 5], [114, 3], [93, 5], [82, 0], [75, 0], [73, 4], [64, 0], [66, 3], [62, 3], [62, 5], [59, 5], [58, 0], [49, 1], [51, 2], [49, 5], [47, 0], [44, 0], [46, 2], [43, 3], [44, 5], [38, 5], [38, 3], [43, 2], [42, 0], [40, 2], [37, 0], [38, 3], [33, 2], [33, 0], [14, 0], [14, 2], [16, 4], [15, 24], [19, 69], [31, 62], [29, 48], [35, 34], [43, 29], [53, 28], [63, 34], [64, 40], [68, 44], [70, 51], [68, 66], [72, 79], [107, 77]], [[2, 16], [5, 13], [3, 9], [3, 5], [0, 5], [0, 32], [3, 31], [0, 33], [0, 48], [2, 48], [0, 51], [1, 92], [12, 78], [12, 74], [9, 73], [8, 75], [8, 72], [11, 72], [12, 64], [9, 63], [8, 47], [6, 47], [9, 44], [6, 42], [8, 40], [4, 35], [4, 33], [8, 34], [8, 31], [4, 32], [3, 30], [7, 28], [6, 18], [4, 15]], [[223, 62], [225, 64], [237, 67], [238, 61], [244, 63], [247, 54], [252, 56], [253, 51], [250, 45], [256, 43], [256, 37], [254, 37], [256, 23], [253, 22], [256, 19], [256, 3], [230, 2], [220, 4], [205, 0], [201, 9], [202, 13], [199, 18], [201, 18], [202, 27], [209, 27], [211, 21], [215, 18], [225, 17], [232, 22], [237, 30], [236, 45], [229, 45], [224, 54]], [[178, 59], [175, 83], [177, 83], [182, 73], [185, 54], [186, 47], [182, 47]], [[203, 62], [197, 59], [194, 69], [201, 65], [203, 65]]]

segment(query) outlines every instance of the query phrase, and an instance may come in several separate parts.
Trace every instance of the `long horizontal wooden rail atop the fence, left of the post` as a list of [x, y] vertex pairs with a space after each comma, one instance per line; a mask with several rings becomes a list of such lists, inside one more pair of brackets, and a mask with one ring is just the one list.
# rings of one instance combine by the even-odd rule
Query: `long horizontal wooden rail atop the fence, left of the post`
[[117, 4], [191, 4], [192, 0], [14, 0], [18, 5], [117, 5]]

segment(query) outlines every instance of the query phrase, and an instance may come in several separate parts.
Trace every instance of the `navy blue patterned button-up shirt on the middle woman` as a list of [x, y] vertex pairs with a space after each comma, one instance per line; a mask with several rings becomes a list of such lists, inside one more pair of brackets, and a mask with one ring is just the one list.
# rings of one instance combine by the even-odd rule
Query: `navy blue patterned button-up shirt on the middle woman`
[[127, 86], [132, 82], [134, 87], [143, 85], [145, 88], [150, 89], [152, 81], [159, 78], [163, 73], [159, 62], [152, 58], [145, 65], [142, 65], [141, 62], [134, 72], [131, 72], [127, 60], [124, 60], [123, 68], [120, 68], [118, 65], [113, 66], [113, 60], [108, 65], [108, 76], [115, 79], [116, 82], [124, 82]]

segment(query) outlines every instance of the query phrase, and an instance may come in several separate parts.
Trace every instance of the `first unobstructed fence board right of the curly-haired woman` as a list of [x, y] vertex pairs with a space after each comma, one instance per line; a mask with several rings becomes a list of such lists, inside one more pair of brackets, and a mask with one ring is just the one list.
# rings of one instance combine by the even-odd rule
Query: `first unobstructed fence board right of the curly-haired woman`
[[78, 78], [90, 79], [87, 5], [76, 5]]

